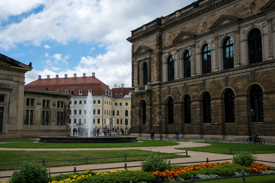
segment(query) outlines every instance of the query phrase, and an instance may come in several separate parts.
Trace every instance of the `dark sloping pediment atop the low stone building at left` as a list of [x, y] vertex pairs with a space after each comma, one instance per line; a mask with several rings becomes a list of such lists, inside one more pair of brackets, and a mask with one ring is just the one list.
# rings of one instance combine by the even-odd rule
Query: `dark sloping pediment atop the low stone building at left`
[[17, 69], [23, 69], [23, 70], [27, 70], [30, 71], [32, 70], [32, 65], [30, 63], [30, 65], [25, 65], [24, 63], [21, 63], [15, 59], [12, 59], [6, 55], [3, 55], [0, 53], [0, 65], [3, 65], [5, 67], [13, 67], [13, 68], [17, 68]]

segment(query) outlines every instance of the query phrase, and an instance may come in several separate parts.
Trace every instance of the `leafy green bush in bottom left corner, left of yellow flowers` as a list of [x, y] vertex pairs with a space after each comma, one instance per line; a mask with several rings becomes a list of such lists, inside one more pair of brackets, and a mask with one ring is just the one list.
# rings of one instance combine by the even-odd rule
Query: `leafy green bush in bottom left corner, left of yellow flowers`
[[23, 163], [20, 170], [13, 172], [9, 183], [48, 183], [50, 170], [36, 164]]

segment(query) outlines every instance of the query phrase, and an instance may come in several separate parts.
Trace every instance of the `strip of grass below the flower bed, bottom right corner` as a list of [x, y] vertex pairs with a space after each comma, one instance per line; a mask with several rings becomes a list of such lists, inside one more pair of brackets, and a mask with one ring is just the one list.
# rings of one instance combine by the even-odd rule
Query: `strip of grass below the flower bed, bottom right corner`
[[[275, 180], [275, 175], [245, 177], [245, 183], [274, 183], [275, 182], [274, 180]], [[186, 180], [186, 181], [190, 181], [190, 180]], [[209, 180], [209, 181], [205, 181], [205, 183], [243, 183], [243, 178]]]

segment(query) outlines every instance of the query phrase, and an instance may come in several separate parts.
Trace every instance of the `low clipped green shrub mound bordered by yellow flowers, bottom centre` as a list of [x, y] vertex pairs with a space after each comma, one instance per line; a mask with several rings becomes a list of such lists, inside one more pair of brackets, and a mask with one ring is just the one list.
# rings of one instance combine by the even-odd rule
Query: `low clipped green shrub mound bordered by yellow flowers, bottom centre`
[[143, 171], [122, 171], [112, 174], [105, 175], [95, 175], [92, 177], [86, 177], [74, 181], [74, 183], [103, 183], [103, 182], [112, 182], [112, 183], [129, 183], [130, 181], [136, 182], [148, 182], [150, 180], [157, 181], [157, 177], [151, 173]]

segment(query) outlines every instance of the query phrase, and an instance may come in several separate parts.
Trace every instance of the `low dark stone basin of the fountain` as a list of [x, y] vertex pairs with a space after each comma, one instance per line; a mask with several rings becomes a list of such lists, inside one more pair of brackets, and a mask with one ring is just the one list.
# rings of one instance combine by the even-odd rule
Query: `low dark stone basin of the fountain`
[[130, 143], [137, 142], [137, 136], [41, 136], [39, 142], [44, 143]]

